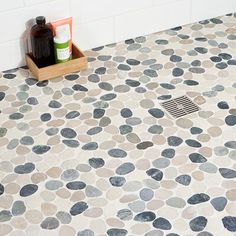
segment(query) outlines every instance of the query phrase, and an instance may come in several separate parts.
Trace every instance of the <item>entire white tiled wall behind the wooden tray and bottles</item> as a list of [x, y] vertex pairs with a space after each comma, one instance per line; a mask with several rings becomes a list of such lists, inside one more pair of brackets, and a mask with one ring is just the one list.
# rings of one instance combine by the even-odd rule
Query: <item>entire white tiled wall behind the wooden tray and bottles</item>
[[73, 40], [83, 50], [236, 11], [236, 0], [3, 0], [0, 71], [25, 64], [32, 18], [73, 17]]

